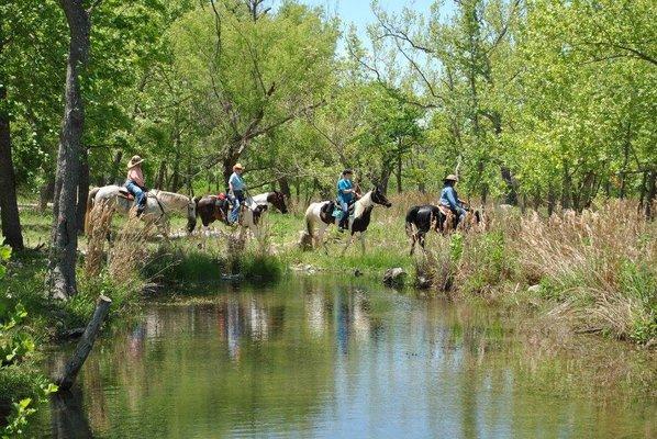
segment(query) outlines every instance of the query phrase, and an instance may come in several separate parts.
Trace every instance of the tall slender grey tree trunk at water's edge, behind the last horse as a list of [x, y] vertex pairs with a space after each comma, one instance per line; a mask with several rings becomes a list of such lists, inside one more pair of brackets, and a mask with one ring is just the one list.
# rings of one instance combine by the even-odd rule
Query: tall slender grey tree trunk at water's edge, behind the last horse
[[53, 234], [48, 260], [48, 291], [55, 299], [65, 300], [77, 292], [76, 257], [78, 248], [76, 201], [80, 173], [80, 150], [85, 110], [79, 76], [87, 63], [91, 21], [82, 0], [60, 0], [70, 32], [66, 68], [66, 93], [57, 176]]

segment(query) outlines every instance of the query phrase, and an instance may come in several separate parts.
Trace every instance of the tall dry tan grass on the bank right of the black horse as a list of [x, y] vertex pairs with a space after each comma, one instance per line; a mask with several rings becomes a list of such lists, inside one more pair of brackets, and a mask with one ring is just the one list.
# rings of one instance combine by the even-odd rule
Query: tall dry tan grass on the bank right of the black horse
[[452, 297], [541, 301], [578, 331], [657, 342], [657, 223], [633, 202], [549, 218], [498, 210], [485, 233], [438, 237], [416, 268]]

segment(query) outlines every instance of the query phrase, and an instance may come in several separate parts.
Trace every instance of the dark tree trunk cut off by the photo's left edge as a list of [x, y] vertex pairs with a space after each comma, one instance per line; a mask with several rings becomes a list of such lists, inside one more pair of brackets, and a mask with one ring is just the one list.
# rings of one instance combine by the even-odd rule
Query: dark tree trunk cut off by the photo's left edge
[[23, 234], [16, 201], [16, 179], [11, 158], [7, 88], [3, 80], [0, 80], [0, 221], [2, 222], [2, 236], [4, 236], [3, 244], [10, 245], [14, 250], [21, 250], [23, 249]]

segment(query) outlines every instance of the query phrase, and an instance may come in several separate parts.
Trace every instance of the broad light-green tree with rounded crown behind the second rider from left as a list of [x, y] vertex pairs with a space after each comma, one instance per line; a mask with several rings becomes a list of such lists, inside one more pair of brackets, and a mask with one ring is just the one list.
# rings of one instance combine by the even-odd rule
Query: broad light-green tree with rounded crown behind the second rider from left
[[332, 23], [293, 2], [276, 14], [261, 3], [212, 1], [171, 33], [177, 70], [196, 103], [191, 119], [214, 150], [207, 162], [221, 164], [224, 181], [256, 139], [324, 104], [333, 66]]

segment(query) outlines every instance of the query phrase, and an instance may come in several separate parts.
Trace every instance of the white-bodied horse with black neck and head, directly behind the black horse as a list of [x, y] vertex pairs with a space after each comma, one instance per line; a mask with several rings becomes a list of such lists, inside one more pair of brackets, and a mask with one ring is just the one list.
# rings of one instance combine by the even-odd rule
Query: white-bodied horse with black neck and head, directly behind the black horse
[[[358, 201], [353, 204], [353, 217], [349, 218], [349, 238], [344, 247], [342, 255], [347, 251], [347, 248], [352, 245], [355, 234], [360, 234], [360, 246], [363, 254], [365, 254], [365, 233], [369, 226], [371, 219], [371, 211], [375, 205], [383, 205], [390, 207], [392, 203], [388, 201], [380, 188], [375, 188], [371, 191], [363, 195]], [[305, 229], [312, 237], [315, 246], [322, 245], [324, 251], [328, 255], [328, 248], [324, 241], [324, 232], [331, 224], [336, 224], [337, 219], [333, 217], [333, 211], [335, 210], [334, 201], [321, 201], [318, 203], [311, 203], [305, 210]], [[352, 210], [349, 210], [350, 212]], [[318, 234], [314, 234], [315, 225], [318, 225]]]

